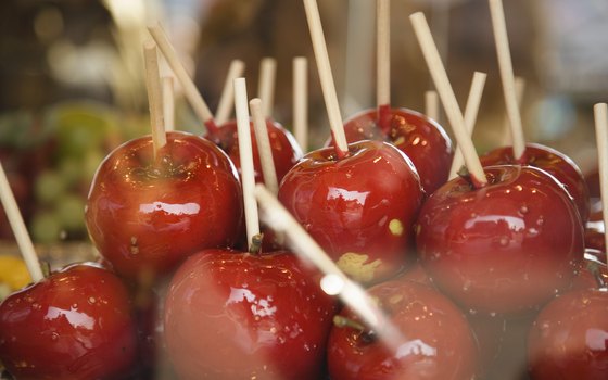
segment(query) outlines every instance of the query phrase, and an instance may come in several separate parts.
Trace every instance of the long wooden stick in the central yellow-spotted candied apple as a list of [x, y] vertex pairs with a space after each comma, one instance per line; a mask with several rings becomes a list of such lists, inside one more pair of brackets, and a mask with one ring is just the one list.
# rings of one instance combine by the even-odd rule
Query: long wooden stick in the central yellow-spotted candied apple
[[329, 54], [327, 52], [319, 9], [316, 0], [304, 0], [304, 9], [306, 11], [306, 20], [308, 21], [308, 28], [311, 30], [317, 68], [319, 71], [321, 90], [329, 117], [329, 125], [333, 136], [335, 154], [339, 159], [341, 159], [349, 154], [349, 144], [346, 143], [344, 125], [342, 124], [342, 114], [340, 112], [340, 104], [338, 103], [335, 85], [333, 84], [333, 75], [331, 74]]

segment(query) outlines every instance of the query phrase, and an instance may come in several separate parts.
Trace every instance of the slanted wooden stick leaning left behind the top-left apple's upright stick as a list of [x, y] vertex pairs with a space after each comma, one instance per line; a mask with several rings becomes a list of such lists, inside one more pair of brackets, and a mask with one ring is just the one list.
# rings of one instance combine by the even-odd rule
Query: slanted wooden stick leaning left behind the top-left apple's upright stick
[[167, 63], [169, 64], [170, 68], [173, 69], [177, 80], [183, 88], [183, 93], [186, 94], [186, 99], [194, 110], [194, 113], [200, 117], [203, 122], [207, 131], [213, 135], [217, 132], [217, 126], [215, 121], [213, 119], [213, 114], [211, 113], [207, 103], [199, 92], [199, 89], [194, 85], [194, 81], [190, 78], [190, 75], [183, 67], [183, 64], [179, 60], [177, 52], [175, 51], [174, 47], [169, 42], [167, 35], [163, 30], [160, 23], [156, 23], [152, 26], [148, 27], [150, 35], [156, 41], [159, 49], [163, 52]]

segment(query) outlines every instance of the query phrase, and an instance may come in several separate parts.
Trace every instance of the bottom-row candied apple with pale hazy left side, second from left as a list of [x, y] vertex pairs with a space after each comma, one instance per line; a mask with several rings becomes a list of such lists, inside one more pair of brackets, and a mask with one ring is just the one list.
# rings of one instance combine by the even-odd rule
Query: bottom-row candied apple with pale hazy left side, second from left
[[180, 379], [320, 379], [335, 302], [289, 252], [206, 250], [176, 271], [165, 301]]

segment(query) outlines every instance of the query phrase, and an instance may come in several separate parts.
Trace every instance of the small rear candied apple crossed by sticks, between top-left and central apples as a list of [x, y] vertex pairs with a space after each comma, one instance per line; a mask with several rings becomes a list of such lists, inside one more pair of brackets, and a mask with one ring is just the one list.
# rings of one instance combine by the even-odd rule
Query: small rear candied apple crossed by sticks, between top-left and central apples
[[[273, 150], [273, 159], [275, 169], [277, 170], [277, 180], [280, 182], [289, 169], [302, 157], [302, 149], [297, 145], [295, 138], [291, 132], [284, 129], [279, 123], [266, 119], [268, 128], [268, 138], [270, 140], [270, 149]], [[255, 174], [255, 182], [264, 182], [262, 173], [262, 164], [259, 163], [259, 154], [257, 153], [257, 142], [255, 140], [255, 129], [253, 123], [250, 123], [251, 144], [253, 150], [253, 169]], [[230, 121], [221, 127], [217, 134], [210, 137], [221, 150], [224, 150], [230, 160], [241, 173], [241, 159], [239, 152], [239, 137], [237, 132], [237, 122]]]

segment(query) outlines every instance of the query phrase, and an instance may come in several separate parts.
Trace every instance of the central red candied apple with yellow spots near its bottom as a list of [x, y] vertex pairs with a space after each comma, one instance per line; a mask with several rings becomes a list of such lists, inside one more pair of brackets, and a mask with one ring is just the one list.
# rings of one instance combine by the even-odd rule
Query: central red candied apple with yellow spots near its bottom
[[394, 145], [364, 140], [349, 155], [306, 154], [283, 178], [278, 199], [351, 278], [394, 276], [411, 256], [423, 190], [411, 161]]

